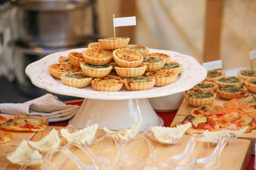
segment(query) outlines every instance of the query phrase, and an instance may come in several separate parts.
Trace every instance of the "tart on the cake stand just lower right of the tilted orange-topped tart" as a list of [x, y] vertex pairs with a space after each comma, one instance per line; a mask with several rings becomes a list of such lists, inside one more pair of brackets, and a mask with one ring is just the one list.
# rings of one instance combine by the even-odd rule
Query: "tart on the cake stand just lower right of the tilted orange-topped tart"
[[147, 72], [156, 72], [164, 67], [165, 59], [162, 57], [144, 57], [143, 63], [146, 64]]

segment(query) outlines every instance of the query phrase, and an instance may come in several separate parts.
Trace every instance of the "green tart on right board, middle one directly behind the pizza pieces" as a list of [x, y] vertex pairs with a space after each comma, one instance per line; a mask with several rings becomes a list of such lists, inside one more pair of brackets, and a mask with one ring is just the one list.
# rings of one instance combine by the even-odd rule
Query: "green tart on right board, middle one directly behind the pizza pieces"
[[242, 85], [228, 85], [218, 87], [216, 92], [221, 98], [232, 99], [245, 96], [247, 89], [245, 88], [245, 86]]

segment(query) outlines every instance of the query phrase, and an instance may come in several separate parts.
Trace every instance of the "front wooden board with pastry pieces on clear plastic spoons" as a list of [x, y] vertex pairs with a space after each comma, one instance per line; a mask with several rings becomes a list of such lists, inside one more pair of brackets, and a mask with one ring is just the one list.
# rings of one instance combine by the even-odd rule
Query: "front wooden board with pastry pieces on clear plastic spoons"
[[[83, 129], [48, 126], [40, 132], [11, 131], [12, 141], [0, 145], [0, 169], [196, 169], [196, 162], [218, 149], [219, 144], [200, 142], [196, 135], [183, 135], [180, 140], [162, 138], [171, 142], [160, 140], [166, 129], [153, 127], [142, 132], [138, 125], [121, 130], [92, 125]], [[176, 134], [189, 125], [185, 126], [168, 130]], [[246, 169], [250, 147], [250, 140], [243, 139], [223, 147], [215, 169]], [[186, 154], [189, 157], [177, 157], [185, 152], [191, 152]]]

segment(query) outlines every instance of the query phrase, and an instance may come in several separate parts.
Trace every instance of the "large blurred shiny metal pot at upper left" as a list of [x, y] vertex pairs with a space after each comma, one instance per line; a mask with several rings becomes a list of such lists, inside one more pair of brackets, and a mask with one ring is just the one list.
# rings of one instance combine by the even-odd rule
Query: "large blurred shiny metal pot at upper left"
[[[14, 32], [36, 47], [71, 47], [95, 35], [90, 0], [19, 0]], [[16, 25], [16, 26], [15, 26]]]

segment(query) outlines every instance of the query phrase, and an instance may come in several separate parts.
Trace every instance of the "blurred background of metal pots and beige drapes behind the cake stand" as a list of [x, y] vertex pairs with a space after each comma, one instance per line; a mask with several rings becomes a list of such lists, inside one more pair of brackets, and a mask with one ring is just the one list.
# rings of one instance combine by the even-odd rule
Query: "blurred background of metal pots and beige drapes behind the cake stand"
[[[31, 84], [28, 64], [64, 50], [113, 37], [112, 15], [136, 16], [118, 27], [130, 44], [173, 50], [199, 63], [223, 61], [234, 75], [250, 68], [256, 48], [253, 0], [17, 0], [0, 1], [0, 103], [20, 103], [48, 93]], [[256, 67], [252, 61], [253, 67]], [[68, 101], [80, 98], [59, 96]]]

